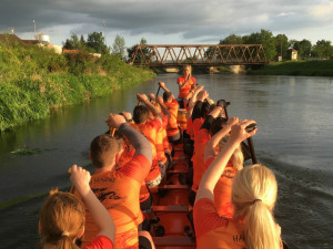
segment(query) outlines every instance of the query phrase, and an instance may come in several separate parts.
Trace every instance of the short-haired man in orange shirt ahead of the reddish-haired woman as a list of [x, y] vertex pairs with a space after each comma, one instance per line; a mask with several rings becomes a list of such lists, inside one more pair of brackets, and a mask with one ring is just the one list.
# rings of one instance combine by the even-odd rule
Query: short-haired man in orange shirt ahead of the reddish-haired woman
[[[114, 170], [115, 155], [120, 152], [114, 149], [118, 142], [109, 135], [95, 137], [91, 143], [91, 158], [95, 174], [91, 177], [90, 186], [114, 220], [117, 228], [114, 248], [138, 247], [139, 193], [151, 167], [151, 146], [144, 136], [131, 128], [123, 118], [119, 122], [114, 121], [113, 116], [109, 117], [110, 126], [114, 127], [114, 122], [118, 122], [115, 124], [118, 131], [131, 142], [135, 154], [132, 160]], [[91, 241], [95, 232], [95, 225], [88, 212], [82, 246]]]

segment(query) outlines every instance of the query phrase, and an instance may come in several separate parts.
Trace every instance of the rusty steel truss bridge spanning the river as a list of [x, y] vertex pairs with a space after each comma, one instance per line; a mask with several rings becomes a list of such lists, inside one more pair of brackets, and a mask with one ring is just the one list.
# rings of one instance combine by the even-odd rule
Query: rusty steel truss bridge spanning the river
[[137, 45], [130, 64], [147, 66], [266, 64], [262, 44]]

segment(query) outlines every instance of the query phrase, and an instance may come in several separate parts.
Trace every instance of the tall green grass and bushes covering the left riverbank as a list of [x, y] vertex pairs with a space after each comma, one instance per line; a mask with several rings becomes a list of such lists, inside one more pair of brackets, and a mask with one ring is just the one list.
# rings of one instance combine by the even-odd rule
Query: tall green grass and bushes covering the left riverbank
[[97, 59], [87, 52], [57, 54], [37, 45], [0, 43], [0, 132], [154, 76], [117, 55]]

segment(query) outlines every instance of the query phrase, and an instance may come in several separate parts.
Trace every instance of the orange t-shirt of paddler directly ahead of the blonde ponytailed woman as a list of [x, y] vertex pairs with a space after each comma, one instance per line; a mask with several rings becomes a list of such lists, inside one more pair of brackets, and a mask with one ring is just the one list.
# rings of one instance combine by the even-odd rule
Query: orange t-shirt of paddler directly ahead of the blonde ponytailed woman
[[[205, 163], [205, 169], [211, 165], [214, 160], [214, 157], [210, 157]], [[223, 217], [233, 217], [234, 207], [231, 203], [231, 189], [232, 181], [235, 177], [238, 170], [232, 166], [232, 163], [229, 160], [225, 166], [222, 176], [219, 178], [219, 181], [214, 188], [214, 205], [220, 216]]]

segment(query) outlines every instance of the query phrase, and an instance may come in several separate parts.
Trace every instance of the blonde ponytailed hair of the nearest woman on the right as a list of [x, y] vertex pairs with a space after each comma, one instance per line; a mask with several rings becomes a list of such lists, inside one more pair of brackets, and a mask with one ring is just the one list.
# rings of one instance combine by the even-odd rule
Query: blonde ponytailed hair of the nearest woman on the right
[[231, 201], [234, 216], [244, 217], [244, 238], [249, 249], [279, 249], [281, 236], [273, 217], [278, 184], [263, 165], [244, 167], [234, 177]]

